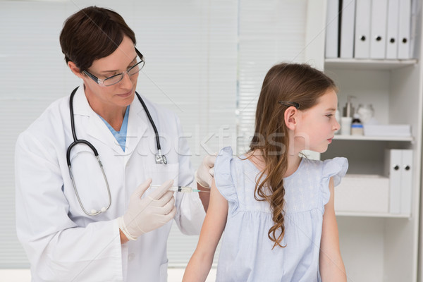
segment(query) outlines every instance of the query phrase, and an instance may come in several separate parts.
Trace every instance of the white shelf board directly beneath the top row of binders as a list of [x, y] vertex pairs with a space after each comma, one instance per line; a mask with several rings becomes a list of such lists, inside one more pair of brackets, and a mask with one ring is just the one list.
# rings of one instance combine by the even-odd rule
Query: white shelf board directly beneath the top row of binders
[[324, 66], [329, 68], [345, 68], [360, 70], [393, 70], [412, 66], [417, 59], [411, 60], [369, 60], [369, 59], [325, 59]]

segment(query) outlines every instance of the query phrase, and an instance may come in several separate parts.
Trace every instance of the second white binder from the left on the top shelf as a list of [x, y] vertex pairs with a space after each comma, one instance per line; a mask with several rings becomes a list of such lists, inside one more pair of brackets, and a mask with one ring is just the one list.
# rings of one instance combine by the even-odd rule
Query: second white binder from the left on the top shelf
[[355, 0], [342, 1], [340, 57], [353, 59], [354, 56]]

